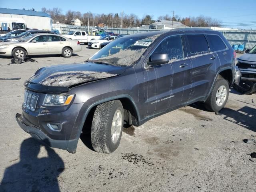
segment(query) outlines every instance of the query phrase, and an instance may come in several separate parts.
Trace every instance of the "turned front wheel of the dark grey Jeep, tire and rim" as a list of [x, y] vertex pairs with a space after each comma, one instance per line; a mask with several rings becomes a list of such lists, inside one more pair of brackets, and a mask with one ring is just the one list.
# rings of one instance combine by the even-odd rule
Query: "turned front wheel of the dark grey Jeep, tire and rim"
[[[112, 126], [114, 122], [115, 126]], [[123, 126], [124, 109], [120, 100], [98, 105], [94, 112], [91, 128], [91, 141], [94, 150], [100, 153], [114, 152], [119, 146]]]

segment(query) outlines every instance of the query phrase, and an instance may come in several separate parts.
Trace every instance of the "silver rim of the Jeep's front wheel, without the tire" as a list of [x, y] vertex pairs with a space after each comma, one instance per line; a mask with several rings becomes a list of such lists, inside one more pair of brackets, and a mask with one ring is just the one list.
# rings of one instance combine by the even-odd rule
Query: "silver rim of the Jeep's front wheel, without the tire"
[[114, 113], [112, 126], [111, 126], [111, 140], [114, 144], [118, 141], [121, 129], [122, 129], [122, 113], [118, 109]]

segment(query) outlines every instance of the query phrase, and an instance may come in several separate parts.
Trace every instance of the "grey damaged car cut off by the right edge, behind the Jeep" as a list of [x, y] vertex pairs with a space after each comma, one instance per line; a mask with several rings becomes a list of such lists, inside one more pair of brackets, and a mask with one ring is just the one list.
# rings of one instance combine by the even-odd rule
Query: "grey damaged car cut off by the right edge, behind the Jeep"
[[239, 85], [235, 88], [244, 94], [256, 92], [256, 46], [251, 50], [246, 50], [246, 54], [237, 58], [236, 66], [242, 74]]

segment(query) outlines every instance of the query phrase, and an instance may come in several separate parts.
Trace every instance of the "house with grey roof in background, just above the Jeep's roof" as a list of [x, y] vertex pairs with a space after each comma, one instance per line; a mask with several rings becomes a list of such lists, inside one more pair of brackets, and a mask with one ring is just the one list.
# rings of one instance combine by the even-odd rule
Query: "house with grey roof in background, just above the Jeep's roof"
[[150, 24], [150, 29], [175, 29], [175, 28], [186, 28], [187, 26], [178, 21], [169, 20], [157, 20], [156, 22]]

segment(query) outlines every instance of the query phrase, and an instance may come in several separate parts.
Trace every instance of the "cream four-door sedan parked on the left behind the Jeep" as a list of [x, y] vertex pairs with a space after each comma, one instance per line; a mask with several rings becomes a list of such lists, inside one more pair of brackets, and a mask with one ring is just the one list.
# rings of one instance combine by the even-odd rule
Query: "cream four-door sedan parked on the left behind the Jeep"
[[78, 40], [56, 34], [33, 34], [23, 39], [0, 44], [0, 55], [22, 58], [27, 55], [62, 54], [71, 57], [82, 48]]

